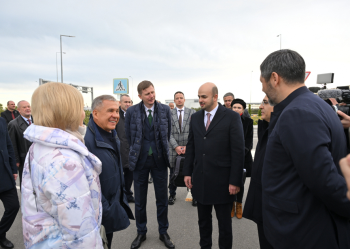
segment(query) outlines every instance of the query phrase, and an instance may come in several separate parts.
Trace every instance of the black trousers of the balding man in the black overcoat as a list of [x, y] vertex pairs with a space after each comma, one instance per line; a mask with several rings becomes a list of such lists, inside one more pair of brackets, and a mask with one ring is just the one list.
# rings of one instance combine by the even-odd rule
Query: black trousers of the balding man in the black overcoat
[[197, 202], [198, 225], [199, 225], [199, 245], [201, 249], [209, 249], [212, 245], [212, 206], [216, 212], [219, 228], [219, 249], [232, 248], [232, 203], [203, 205]]

